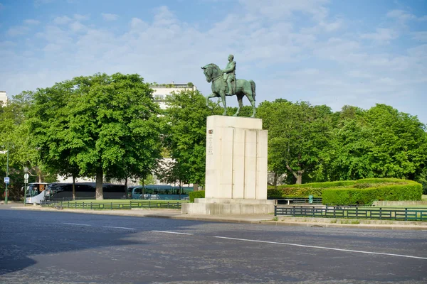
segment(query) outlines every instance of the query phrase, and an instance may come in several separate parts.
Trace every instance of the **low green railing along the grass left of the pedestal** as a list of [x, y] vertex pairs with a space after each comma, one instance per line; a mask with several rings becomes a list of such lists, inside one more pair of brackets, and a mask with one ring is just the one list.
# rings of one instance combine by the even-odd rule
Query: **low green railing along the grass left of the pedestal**
[[132, 208], [162, 208], [181, 209], [181, 202], [130, 201], [129, 203], [113, 202], [73, 202], [73, 201], [43, 201], [42, 207], [73, 208], [73, 209], [132, 209]]

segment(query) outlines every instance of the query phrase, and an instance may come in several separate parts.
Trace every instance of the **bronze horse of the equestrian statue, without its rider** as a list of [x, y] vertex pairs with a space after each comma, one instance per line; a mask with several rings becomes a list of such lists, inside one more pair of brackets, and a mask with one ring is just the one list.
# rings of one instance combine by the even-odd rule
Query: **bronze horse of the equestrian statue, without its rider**
[[[209, 99], [213, 97], [221, 97], [221, 101], [223, 103], [224, 112], [223, 115], [227, 115], [227, 103], [226, 103], [226, 85], [227, 83], [223, 80], [223, 71], [220, 67], [215, 65], [214, 63], [208, 64], [204, 67], [201, 67], [203, 69], [204, 75], [206, 76], [206, 81], [209, 83], [212, 82], [212, 94], [209, 94], [206, 96], [206, 107], [209, 107], [209, 109], [212, 109], [212, 107], [209, 106]], [[237, 101], [238, 101], [238, 109], [236, 111], [236, 114], [233, 116], [238, 116], [242, 105], [242, 99], [244, 96], [248, 97], [249, 102], [251, 102], [252, 105], [252, 116], [255, 117], [256, 109], [255, 109], [255, 82], [253, 80], [243, 80], [243, 79], [236, 79], [233, 83], [233, 92], [230, 91], [232, 96], [233, 94], [236, 94]]]

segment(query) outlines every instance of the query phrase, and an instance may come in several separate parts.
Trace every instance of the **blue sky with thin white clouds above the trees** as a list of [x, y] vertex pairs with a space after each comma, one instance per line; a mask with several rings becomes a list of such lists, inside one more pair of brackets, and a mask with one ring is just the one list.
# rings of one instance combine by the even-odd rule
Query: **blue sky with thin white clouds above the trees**
[[427, 0], [0, 0], [9, 98], [98, 72], [206, 96], [200, 67], [229, 54], [257, 104], [387, 104], [427, 124]]

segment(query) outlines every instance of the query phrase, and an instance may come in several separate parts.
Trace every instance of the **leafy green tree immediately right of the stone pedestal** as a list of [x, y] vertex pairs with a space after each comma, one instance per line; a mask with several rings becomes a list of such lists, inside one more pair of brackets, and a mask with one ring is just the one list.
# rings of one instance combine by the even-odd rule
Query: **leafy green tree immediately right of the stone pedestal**
[[292, 104], [278, 99], [260, 104], [258, 116], [268, 129], [270, 170], [292, 175], [297, 184], [302, 183], [303, 175], [310, 178], [329, 139], [330, 114], [329, 107], [313, 107], [308, 102]]

